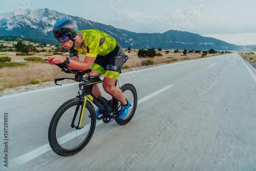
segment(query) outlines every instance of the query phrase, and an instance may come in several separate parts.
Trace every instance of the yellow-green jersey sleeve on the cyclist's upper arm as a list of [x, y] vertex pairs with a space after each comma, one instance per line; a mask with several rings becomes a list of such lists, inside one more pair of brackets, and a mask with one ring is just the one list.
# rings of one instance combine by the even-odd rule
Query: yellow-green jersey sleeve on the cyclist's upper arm
[[97, 57], [99, 50], [100, 36], [97, 33], [91, 33], [90, 35], [84, 36], [84, 45], [86, 45], [87, 56]]

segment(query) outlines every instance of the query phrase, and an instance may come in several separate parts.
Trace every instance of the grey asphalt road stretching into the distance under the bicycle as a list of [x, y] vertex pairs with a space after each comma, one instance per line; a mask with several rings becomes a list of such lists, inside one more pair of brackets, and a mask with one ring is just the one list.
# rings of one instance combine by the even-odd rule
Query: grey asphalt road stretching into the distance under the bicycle
[[238, 53], [124, 73], [119, 82], [137, 89], [134, 118], [97, 121], [71, 157], [51, 150], [48, 127], [77, 83], [0, 97], [0, 170], [256, 170], [256, 76]]

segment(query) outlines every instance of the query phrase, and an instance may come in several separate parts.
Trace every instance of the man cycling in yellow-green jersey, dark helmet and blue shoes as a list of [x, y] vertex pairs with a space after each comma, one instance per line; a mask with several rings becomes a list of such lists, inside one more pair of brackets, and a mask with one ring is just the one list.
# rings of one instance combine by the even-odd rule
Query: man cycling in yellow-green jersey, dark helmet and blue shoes
[[[85, 71], [92, 69], [91, 75], [102, 75], [103, 89], [106, 93], [121, 102], [121, 112], [119, 119], [125, 117], [130, 106], [126, 101], [122, 91], [115, 87], [115, 82], [121, 73], [124, 61], [124, 51], [118, 42], [106, 33], [99, 30], [78, 31], [77, 25], [70, 19], [60, 19], [53, 27], [55, 39], [63, 48], [69, 50], [70, 58], [53, 55], [46, 57], [46, 61], [51, 65], [56, 63], [65, 63], [70, 68]], [[84, 61], [79, 61], [79, 55], [86, 55]], [[92, 93], [95, 97], [100, 97], [99, 87], [94, 84]], [[97, 109], [96, 117], [102, 112]], [[91, 117], [89, 115], [89, 117]]]

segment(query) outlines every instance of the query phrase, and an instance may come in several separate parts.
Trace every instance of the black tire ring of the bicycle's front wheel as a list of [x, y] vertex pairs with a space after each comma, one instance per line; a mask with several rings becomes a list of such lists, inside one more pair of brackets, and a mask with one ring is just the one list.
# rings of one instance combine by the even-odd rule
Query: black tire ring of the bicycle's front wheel
[[82, 101], [80, 100], [80, 98], [70, 99], [67, 102], [63, 103], [52, 117], [52, 120], [49, 125], [48, 140], [49, 140], [49, 144], [50, 144], [51, 148], [57, 155], [67, 157], [67, 156], [72, 156], [72, 155], [77, 154], [89, 143], [89, 141], [91, 140], [91, 138], [93, 136], [95, 126], [96, 126], [96, 115], [95, 115], [95, 110], [93, 108], [93, 105], [89, 101], [87, 101], [85, 108], [90, 112], [90, 115], [91, 115], [91, 126], [90, 126], [90, 131], [89, 131], [87, 137], [85, 137], [85, 139], [82, 141], [82, 143], [80, 143], [78, 146], [76, 146], [74, 148], [70, 148], [70, 149], [63, 148], [57, 141], [56, 126], [57, 126], [57, 123], [58, 123], [60, 117], [69, 108], [71, 108], [74, 105], [78, 105], [78, 104], [81, 105], [81, 103], [82, 103]]

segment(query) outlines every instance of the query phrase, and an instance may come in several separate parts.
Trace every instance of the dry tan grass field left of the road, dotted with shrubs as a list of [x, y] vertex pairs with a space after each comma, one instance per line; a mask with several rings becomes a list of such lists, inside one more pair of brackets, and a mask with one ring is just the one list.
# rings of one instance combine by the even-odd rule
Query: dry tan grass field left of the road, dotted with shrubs
[[[47, 51], [51, 48], [45, 48]], [[129, 56], [129, 60], [126, 61], [126, 68], [134, 68], [141, 67], [141, 62], [146, 58], [139, 58], [137, 55], [138, 50], [132, 49], [129, 53], [127, 49], [125, 49], [125, 54]], [[163, 56], [155, 56], [152, 58], [155, 61], [155, 65], [159, 63], [170, 63], [173, 62], [174, 59], [178, 61], [184, 60], [192, 60], [201, 58], [201, 54], [199, 53], [188, 53], [186, 56], [183, 55], [182, 52], [174, 53], [174, 51], [170, 51], [168, 54], [165, 54], [165, 51], [160, 51], [157, 53], [161, 53]], [[45, 59], [46, 56], [53, 55], [53, 52], [40, 52], [35, 53], [32, 56], [41, 57]], [[64, 56], [69, 56], [69, 53], [63, 54]], [[207, 57], [217, 54], [208, 54]], [[23, 60], [26, 57], [30, 56], [16, 56], [16, 52], [2, 52], [1, 56], [11, 57], [11, 61]], [[84, 55], [80, 55], [80, 61], [83, 61]], [[57, 66], [51, 66], [49, 63], [44, 62], [32, 62], [32, 61], [23, 61], [26, 63], [23, 67], [4, 67], [0, 69], [0, 91], [8, 88], [15, 88], [19, 86], [27, 86], [29, 84], [40, 84], [42, 82], [52, 81], [58, 77], [72, 77], [70, 74], [66, 74], [60, 71]]]

